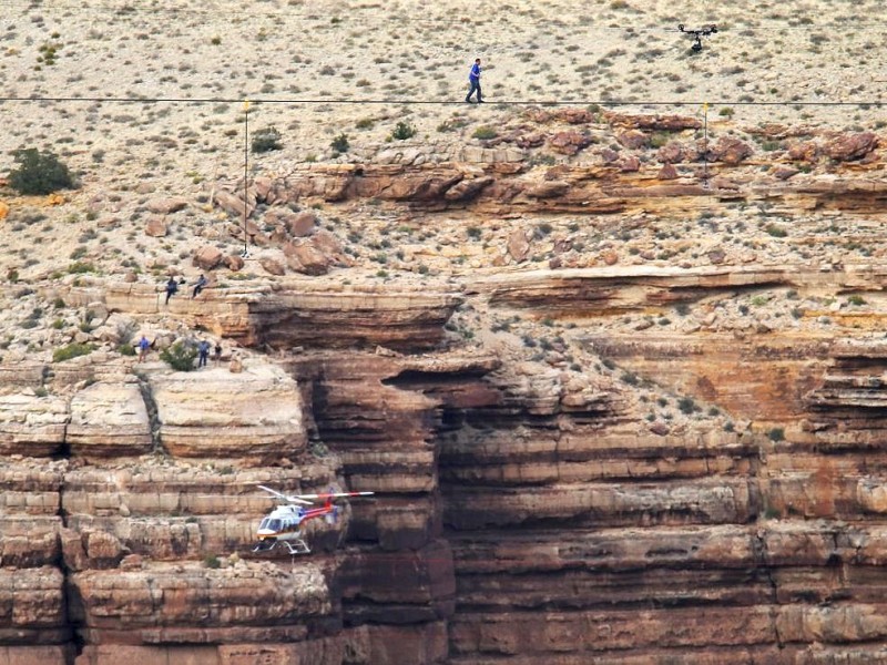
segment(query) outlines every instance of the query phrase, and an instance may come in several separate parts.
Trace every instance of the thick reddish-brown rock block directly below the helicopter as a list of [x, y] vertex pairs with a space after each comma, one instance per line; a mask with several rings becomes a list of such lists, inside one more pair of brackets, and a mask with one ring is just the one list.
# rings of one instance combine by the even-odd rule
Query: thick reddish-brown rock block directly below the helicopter
[[75, 618], [95, 642], [288, 642], [332, 611], [326, 581], [308, 563], [152, 564], [77, 573], [72, 583]]

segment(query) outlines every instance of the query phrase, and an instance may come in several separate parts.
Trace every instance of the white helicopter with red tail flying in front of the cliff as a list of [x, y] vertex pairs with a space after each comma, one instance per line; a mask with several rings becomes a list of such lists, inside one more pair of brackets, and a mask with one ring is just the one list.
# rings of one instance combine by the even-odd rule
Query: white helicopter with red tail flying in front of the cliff
[[[314, 518], [324, 518], [327, 524], [335, 524], [338, 518], [339, 507], [334, 505], [333, 500], [341, 497], [371, 497], [375, 492], [327, 492], [325, 494], [283, 494], [277, 490], [258, 485], [276, 499], [285, 502], [277, 505], [271, 513], [265, 515], [256, 531], [256, 543], [253, 552], [271, 552], [277, 545], [284, 545], [289, 554], [308, 554], [310, 548], [302, 538], [300, 525]], [[318, 508], [305, 508], [312, 505], [312, 499], [325, 499], [325, 503]]]

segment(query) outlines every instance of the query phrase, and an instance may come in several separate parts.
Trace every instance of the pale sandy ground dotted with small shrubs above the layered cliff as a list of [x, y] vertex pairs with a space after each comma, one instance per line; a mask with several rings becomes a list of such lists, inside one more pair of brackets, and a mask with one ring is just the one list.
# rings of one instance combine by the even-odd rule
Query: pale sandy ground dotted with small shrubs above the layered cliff
[[[57, 152], [82, 184], [58, 206], [14, 198], [1, 227], [0, 277], [9, 288], [11, 270], [20, 288], [72, 278], [65, 270], [75, 260], [106, 274], [136, 270], [140, 279], [195, 273], [191, 254], [205, 242], [195, 235], [207, 237], [224, 215], [192, 206], [175, 216], [170, 235], [153, 238], [144, 235], [145, 203], [165, 194], [205, 201], [211, 183], [243, 174], [244, 99], [253, 132], [274, 126], [282, 134], [283, 150], [249, 155], [252, 173], [263, 174], [359, 160], [384, 147], [401, 121], [417, 130], [417, 144], [468, 143], [479, 125], [507, 125], [547, 102], [614, 100], [621, 112], [701, 115], [707, 101], [713, 133], [771, 121], [835, 130], [887, 124], [875, 58], [887, 24], [877, 22], [874, 0], [691, 1], [680, 12], [664, 0], [594, 0], [581, 11], [565, 0], [3, 7], [0, 174], [12, 166], [11, 150], [34, 146]], [[676, 32], [681, 22], [720, 31], [694, 54], [692, 40]], [[475, 57], [486, 66], [483, 108], [461, 101]], [[812, 105], [832, 102], [848, 105]], [[330, 142], [343, 133], [351, 149], [336, 156]], [[840, 249], [840, 219], [781, 214], [724, 204], [680, 225], [541, 215], [524, 222], [552, 238], [569, 235], [592, 255], [618, 247], [623, 263], [697, 265], [713, 246], [738, 263], [880, 255], [870, 245]], [[430, 277], [458, 278], [482, 267], [486, 248], [502, 245], [508, 232], [447, 214], [415, 234], [404, 229], [402, 212], [373, 206], [320, 215], [358, 264], [343, 279], [363, 270], [416, 280], [417, 262]], [[785, 227], [785, 242], [767, 231], [774, 223]], [[861, 222], [852, 223], [858, 232]], [[866, 224], [877, 233], [877, 221]], [[546, 265], [546, 242], [530, 267]], [[237, 246], [224, 236], [216, 244]], [[434, 250], [411, 250], [422, 245]], [[380, 250], [388, 250], [385, 270], [374, 263]]]

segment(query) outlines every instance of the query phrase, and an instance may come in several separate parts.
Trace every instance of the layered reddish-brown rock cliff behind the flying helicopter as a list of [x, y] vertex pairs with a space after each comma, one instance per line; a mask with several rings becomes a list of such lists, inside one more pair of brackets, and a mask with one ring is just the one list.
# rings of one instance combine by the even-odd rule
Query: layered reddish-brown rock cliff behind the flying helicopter
[[[877, 135], [504, 130], [222, 186], [283, 263], [198, 299], [21, 296], [88, 308], [95, 348], [0, 365], [0, 662], [887, 662]], [[296, 252], [313, 201], [458, 231], [361, 273], [324, 236]], [[427, 269], [396, 272], [408, 252]], [[157, 361], [210, 336], [208, 368]], [[376, 497], [263, 556], [258, 484]]]

